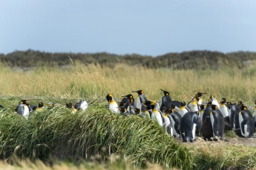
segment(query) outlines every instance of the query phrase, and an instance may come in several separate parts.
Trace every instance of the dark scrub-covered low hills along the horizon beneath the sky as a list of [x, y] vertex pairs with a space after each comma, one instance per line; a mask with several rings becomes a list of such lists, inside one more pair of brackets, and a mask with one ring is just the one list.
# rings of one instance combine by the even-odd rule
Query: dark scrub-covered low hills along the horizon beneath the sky
[[101, 53], [50, 53], [35, 50], [14, 51], [0, 54], [0, 61], [10, 67], [65, 66], [72, 62], [100, 64], [114, 67], [116, 64], [139, 65], [147, 68], [207, 69], [219, 66], [241, 68], [256, 60], [256, 52], [221, 53], [217, 51], [186, 51], [167, 53], [156, 57], [139, 54], [117, 55]]

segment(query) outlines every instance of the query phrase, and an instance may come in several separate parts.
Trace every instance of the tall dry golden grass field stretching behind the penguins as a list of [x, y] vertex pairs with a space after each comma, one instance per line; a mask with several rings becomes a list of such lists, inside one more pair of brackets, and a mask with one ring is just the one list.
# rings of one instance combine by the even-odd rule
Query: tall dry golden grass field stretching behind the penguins
[[149, 99], [159, 100], [162, 88], [170, 91], [174, 100], [187, 101], [196, 92], [203, 91], [219, 99], [250, 101], [256, 98], [255, 65], [244, 69], [170, 70], [73, 64], [66, 69], [38, 68], [26, 72], [2, 67], [0, 95], [104, 100], [109, 92], [118, 99], [132, 90], [142, 89]]

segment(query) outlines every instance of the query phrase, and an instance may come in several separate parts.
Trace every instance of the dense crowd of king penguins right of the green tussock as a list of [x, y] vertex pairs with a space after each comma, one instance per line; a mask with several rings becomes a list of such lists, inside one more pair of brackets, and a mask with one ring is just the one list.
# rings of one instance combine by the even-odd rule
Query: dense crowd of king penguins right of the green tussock
[[[107, 107], [115, 114], [124, 116], [139, 116], [156, 121], [163, 127], [166, 134], [175, 138], [182, 138], [183, 142], [195, 141], [195, 136], [202, 136], [204, 140], [226, 140], [224, 131], [234, 132], [244, 138], [254, 137], [256, 117], [242, 101], [231, 103], [222, 98], [219, 102], [211, 95], [207, 103], [202, 103], [202, 96], [206, 92], [198, 92], [187, 104], [185, 101], [173, 101], [170, 93], [161, 89], [164, 96], [161, 103], [150, 101], [143, 90], [132, 91], [139, 96], [136, 104], [132, 94], [122, 96], [120, 102], [108, 94]], [[256, 105], [256, 100], [253, 100]], [[256, 107], [254, 107], [256, 110]]]

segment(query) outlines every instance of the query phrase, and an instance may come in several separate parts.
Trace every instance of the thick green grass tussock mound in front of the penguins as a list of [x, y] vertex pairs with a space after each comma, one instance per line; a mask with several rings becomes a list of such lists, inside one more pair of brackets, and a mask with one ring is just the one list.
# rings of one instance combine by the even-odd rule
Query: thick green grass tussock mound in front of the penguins
[[0, 114], [0, 157], [13, 154], [31, 160], [94, 159], [111, 155], [139, 167], [147, 162], [165, 167], [189, 169], [192, 155], [185, 146], [163, 133], [152, 120], [112, 114], [103, 106], [92, 105], [79, 114], [63, 106], [34, 112], [28, 120], [9, 109]]

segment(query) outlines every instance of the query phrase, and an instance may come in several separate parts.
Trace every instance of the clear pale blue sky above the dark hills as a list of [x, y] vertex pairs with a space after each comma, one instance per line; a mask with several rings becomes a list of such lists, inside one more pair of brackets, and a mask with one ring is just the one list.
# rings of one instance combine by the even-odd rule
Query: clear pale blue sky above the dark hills
[[255, 0], [0, 0], [0, 53], [256, 51]]

